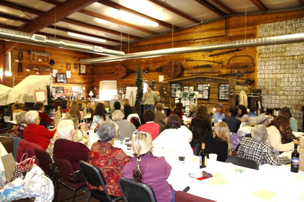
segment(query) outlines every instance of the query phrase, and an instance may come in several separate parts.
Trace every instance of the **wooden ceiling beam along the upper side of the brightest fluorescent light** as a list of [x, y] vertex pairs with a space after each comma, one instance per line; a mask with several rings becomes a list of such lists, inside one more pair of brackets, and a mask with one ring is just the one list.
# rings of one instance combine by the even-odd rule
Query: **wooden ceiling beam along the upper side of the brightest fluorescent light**
[[[139, 16], [139, 17], [143, 17], [143, 18], [148, 19], [148, 20], [151, 20], [151, 21], [153, 21], [153, 22], [157, 22], [157, 23], [160, 24], [161, 26], [164, 26], [164, 27], [166, 27], [166, 28], [172, 29], [172, 24], [169, 24], [169, 23], [167, 23], [167, 22], [164, 22], [164, 21], [155, 19], [155, 18], [153, 18], [153, 17], [144, 15], [144, 14], [142, 14], [142, 13], [140, 13], [140, 12], [134, 11], [134, 10], [132, 10], [132, 9], [129, 9], [129, 8], [125, 7], [125, 6], [122, 6], [122, 5], [120, 5], [120, 4], [114, 3], [114, 2], [112, 2], [112, 1], [109, 1], [109, 0], [98, 0], [98, 2], [101, 3], [101, 4], [104, 4], [104, 5], [106, 5], [106, 6], [112, 7], [112, 8], [116, 8], [116, 9], [119, 9], [119, 10], [124, 10], [124, 11], [126, 11], [126, 12], [128, 12], [128, 13], [134, 14], [134, 15]], [[174, 28], [174, 29], [178, 29], [179, 27], [173, 26], [173, 28]]]

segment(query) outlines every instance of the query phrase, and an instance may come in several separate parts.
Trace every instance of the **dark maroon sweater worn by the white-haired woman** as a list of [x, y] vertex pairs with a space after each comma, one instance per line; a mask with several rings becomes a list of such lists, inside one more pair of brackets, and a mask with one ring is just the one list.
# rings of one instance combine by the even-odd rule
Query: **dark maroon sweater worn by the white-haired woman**
[[54, 144], [53, 155], [57, 158], [63, 158], [71, 162], [75, 170], [79, 170], [78, 162], [87, 161], [89, 148], [80, 143], [67, 139], [57, 139]]

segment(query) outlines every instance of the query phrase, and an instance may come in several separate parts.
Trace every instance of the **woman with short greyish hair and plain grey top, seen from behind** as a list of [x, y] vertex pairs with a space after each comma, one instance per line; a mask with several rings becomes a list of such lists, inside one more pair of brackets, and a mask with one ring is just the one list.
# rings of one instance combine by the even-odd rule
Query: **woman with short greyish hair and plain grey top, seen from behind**
[[130, 121], [124, 119], [125, 115], [121, 110], [115, 110], [112, 113], [112, 120], [118, 126], [119, 136], [120, 137], [129, 137], [132, 138], [132, 134], [136, 127]]

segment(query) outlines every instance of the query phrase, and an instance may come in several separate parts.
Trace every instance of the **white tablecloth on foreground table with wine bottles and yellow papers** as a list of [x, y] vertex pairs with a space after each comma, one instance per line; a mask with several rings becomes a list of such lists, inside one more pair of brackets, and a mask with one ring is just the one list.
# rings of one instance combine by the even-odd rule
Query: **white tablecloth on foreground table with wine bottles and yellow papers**
[[[244, 171], [239, 173], [235, 171], [236, 168]], [[231, 163], [207, 161], [207, 167], [202, 170], [214, 177], [201, 181], [190, 178], [186, 166], [182, 168], [179, 165], [172, 166], [168, 182], [175, 190], [190, 186], [188, 193], [217, 202], [304, 201], [304, 172], [290, 172], [289, 165], [263, 165], [259, 170], [254, 170]]]

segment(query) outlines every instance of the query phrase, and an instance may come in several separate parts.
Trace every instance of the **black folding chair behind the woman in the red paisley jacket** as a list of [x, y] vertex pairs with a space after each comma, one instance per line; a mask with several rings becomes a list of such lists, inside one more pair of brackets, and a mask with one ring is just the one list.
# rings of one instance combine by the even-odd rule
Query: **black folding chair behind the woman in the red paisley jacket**
[[101, 191], [99, 189], [89, 189], [87, 202], [89, 202], [91, 197], [94, 197], [95, 199], [101, 202], [117, 202], [123, 199], [123, 197], [116, 197], [108, 194], [106, 187], [107, 182], [99, 168], [90, 165], [89, 163], [83, 160], [79, 161], [79, 166], [83, 175], [86, 178], [87, 183], [96, 187], [102, 186], [104, 188], [104, 191]]

